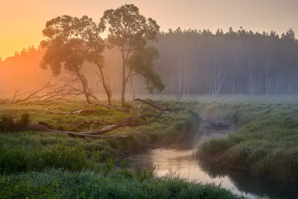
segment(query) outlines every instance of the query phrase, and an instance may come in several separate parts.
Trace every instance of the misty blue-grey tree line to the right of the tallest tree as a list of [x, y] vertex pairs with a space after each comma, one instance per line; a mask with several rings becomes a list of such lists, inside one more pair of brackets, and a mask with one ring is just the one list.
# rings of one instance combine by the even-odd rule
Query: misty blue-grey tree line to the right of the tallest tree
[[169, 94], [297, 94], [298, 41], [293, 30], [253, 33], [242, 27], [160, 32], [155, 70]]

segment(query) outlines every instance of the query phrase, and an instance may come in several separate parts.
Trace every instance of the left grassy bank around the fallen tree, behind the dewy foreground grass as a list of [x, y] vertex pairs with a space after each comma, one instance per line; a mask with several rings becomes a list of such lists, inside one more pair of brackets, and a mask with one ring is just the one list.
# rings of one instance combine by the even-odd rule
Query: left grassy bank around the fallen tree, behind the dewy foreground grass
[[[22, 123], [20, 117], [24, 113], [35, 113], [30, 116], [32, 123], [44, 122], [54, 128], [67, 130], [69, 124], [74, 124], [78, 121], [113, 121], [119, 122], [124, 118], [136, 114], [134, 112], [123, 112], [116, 109], [107, 109], [101, 106], [93, 107], [97, 110], [92, 113], [81, 113], [79, 115], [62, 115], [52, 114], [49, 112], [44, 113], [42, 107], [51, 108], [54, 112], [69, 112], [80, 110], [84, 106], [84, 100], [77, 100], [76, 102], [49, 102], [49, 103], [18, 103], [15, 105], [2, 104], [0, 105], [2, 133], [0, 134], [1, 140], [1, 160], [0, 172], [4, 171], [22, 171], [23, 169], [38, 169], [42, 170], [45, 167], [55, 166], [59, 168], [67, 167], [68, 169], [80, 170], [89, 164], [90, 157], [98, 156], [98, 161], [103, 162], [107, 158], [115, 158], [117, 154], [125, 151], [139, 149], [141, 143], [151, 144], [155, 142], [170, 143], [175, 140], [183, 139], [189, 134], [193, 133], [195, 129], [198, 115], [193, 111], [186, 111], [175, 118], [170, 120], [167, 125], [159, 124], [157, 122], [150, 123], [139, 127], [138, 131], [130, 127], [116, 129], [105, 135], [127, 135], [126, 138], [75, 138], [66, 134], [53, 133], [53, 132], [34, 132], [22, 131], [18, 127]], [[115, 101], [119, 103], [120, 101]], [[128, 104], [129, 106], [129, 104]], [[26, 115], [26, 114], [25, 114]], [[16, 118], [11, 121], [9, 118]], [[9, 119], [7, 119], [9, 118]], [[25, 119], [27, 120], [27, 119]], [[8, 126], [13, 126], [9, 132], [4, 125], [9, 123]], [[92, 129], [100, 129], [107, 125], [94, 124]], [[90, 124], [80, 125], [75, 131], [82, 132], [90, 130]], [[146, 132], [146, 133], [144, 133]], [[99, 153], [94, 155], [95, 153]], [[69, 163], [68, 166], [63, 164], [66, 159], [57, 159], [53, 162], [53, 157], [67, 157], [69, 160], [82, 159], [85, 163], [76, 165], [76, 163]], [[72, 157], [73, 154], [76, 154]], [[30, 158], [28, 158], [30, 157]], [[55, 158], [54, 158], [55, 159]], [[13, 161], [8, 161], [13, 160]], [[82, 162], [83, 162], [82, 161]], [[16, 163], [17, 162], [17, 163]], [[34, 162], [38, 162], [35, 164]]]

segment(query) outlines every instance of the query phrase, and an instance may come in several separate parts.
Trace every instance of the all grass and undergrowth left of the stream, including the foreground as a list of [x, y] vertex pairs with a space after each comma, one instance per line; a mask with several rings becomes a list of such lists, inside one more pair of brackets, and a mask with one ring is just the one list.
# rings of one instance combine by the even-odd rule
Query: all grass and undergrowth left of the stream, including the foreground
[[[118, 103], [120, 103], [118, 101]], [[152, 178], [115, 166], [122, 150], [140, 143], [170, 143], [193, 132], [199, 115], [186, 111], [168, 125], [150, 124], [136, 131], [129, 127], [107, 135], [127, 138], [77, 138], [54, 132], [24, 131], [28, 122], [40, 121], [66, 130], [77, 121], [121, 121], [133, 113], [96, 107], [94, 113], [54, 115], [43, 113], [81, 109], [83, 101], [0, 105], [0, 198], [241, 198], [214, 183], [198, 183], [179, 177]], [[35, 114], [30, 114], [35, 113]], [[94, 125], [93, 129], [103, 126]], [[84, 124], [76, 131], [87, 131]], [[154, 169], [154, 168], [153, 168]]]

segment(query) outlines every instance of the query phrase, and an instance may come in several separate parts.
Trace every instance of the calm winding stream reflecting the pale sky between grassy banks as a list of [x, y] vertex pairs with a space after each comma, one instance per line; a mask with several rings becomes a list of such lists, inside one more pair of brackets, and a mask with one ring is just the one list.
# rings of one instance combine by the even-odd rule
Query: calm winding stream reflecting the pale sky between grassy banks
[[235, 169], [225, 168], [218, 163], [191, 158], [192, 150], [199, 144], [212, 137], [224, 138], [228, 135], [226, 132], [198, 132], [186, 141], [171, 144], [167, 149], [142, 149], [131, 152], [126, 157], [119, 157], [118, 164], [126, 158], [126, 167], [131, 168], [134, 173], [138, 167], [141, 171], [146, 169], [148, 173], [150, 169], [156, 166], [153, 172], [156, 177], [179, 175], [181, 178], [202, 181], [203, 183], [221, 183], [223, 187], [248, 198], [255, 198], [258, 195], [273, 197], [274, 193], [275, 196], [278, 195], [279, 197], [297, 197], [298, 186], [262, 180]]

